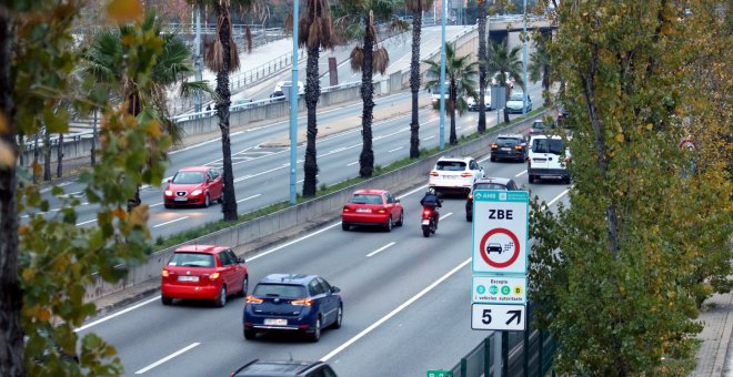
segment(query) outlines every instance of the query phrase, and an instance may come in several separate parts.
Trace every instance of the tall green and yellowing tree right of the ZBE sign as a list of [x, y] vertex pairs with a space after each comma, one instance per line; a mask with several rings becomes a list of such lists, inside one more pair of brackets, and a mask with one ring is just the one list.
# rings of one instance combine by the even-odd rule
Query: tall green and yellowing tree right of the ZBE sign
[[[554, 3], [574, 185], [556, 216], [532, 205], [530, 296], [560, 342], [560, 373], [684, 374], [670, 360], [691, 357], [696, 304], [730, 289], [731, 110], [715, 106], [730, 102], [730, 52], [704, 59], [730, 49], [731, 29], [725, 2], [686, 4], [687, 16], [664, 0]], [[713, 26], [722, 40], [705, 38], [703, 58]], [[680, 150], [686, 135], [699, 151]]]

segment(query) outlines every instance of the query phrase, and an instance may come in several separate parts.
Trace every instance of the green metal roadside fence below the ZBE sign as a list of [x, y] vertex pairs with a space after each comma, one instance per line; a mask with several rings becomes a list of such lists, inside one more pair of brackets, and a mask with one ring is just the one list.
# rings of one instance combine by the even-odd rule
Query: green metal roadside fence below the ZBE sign
[[[501, 366], [502, 376], [545, 376], [551, 371], [556, 348], [548, 330], [532, 329], [533, 304], [528, 304], [528, 330], [492, 332], [451, 369], [453, 377], [495, 376]], [[496, 336], [502, 340], [502, 360], [494, 359], [492, 345]]]

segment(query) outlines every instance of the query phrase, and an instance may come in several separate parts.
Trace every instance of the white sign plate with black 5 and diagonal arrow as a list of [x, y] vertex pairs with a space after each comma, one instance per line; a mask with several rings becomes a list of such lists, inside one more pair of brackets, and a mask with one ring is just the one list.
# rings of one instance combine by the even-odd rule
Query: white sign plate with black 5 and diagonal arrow
[[471, 328], [501, 332], [526, 329], [526, 306], [502, 304], [471, 305]]

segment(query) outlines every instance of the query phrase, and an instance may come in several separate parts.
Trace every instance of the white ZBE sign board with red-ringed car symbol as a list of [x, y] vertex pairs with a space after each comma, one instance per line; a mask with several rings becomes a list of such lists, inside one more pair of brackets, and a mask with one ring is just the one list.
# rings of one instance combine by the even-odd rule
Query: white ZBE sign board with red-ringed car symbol
[[473, 193], [474, 273], [526, 275], [529, 207], [526, 191]]

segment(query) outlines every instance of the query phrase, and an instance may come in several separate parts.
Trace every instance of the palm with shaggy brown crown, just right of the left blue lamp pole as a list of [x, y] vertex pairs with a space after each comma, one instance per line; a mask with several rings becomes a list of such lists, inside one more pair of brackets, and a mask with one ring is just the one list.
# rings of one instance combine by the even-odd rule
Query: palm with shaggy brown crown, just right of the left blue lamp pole
[[[298, 0], [295, 0], [298, 1]], [[289, 19], [292, 22], [292, 16]], [[289, 28], [290, 26], [287, 26]], [[321, 96], [321, 82], [319, 80], [318, 61], [321, 49], [331, 49], [338, 42], [333, 30], [333, 19], [329, 11], [328, 0], [308, 0], [305, 13], [298, 21], [298, 44], [308, 50], [308, 63], [305, 65], [305, 108], [308, 109], [308, 132], [305, 145], [305, 159], [303, 162], [304, 180], [303, 196], [315, 196], [318, 184], [318, 163], [315, 159], [315, 135], [318, 123], [315, 106]], [[295, 90], [293, 88], [293, 90]]]

